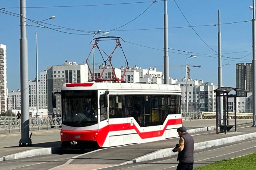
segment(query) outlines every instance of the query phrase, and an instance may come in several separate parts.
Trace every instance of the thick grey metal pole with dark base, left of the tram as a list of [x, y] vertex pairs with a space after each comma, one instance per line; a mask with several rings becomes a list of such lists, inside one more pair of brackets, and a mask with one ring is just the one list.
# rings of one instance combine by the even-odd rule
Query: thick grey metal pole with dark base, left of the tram
[[28, 41], [26, 38], [26, 0], [20, 0], [20, 91], [21, 139], [20, 146], [32, 144], [29, 138], [28, 113]]

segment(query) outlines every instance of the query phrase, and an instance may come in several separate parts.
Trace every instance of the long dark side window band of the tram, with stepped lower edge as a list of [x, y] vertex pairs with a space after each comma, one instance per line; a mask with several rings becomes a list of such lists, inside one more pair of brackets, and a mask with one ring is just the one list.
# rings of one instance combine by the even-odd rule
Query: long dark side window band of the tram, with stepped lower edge
[[110, 95], [109, 118], [133, 117], [141, 127], [162, 125], [169, 114], [180, 114], [178, 95]]

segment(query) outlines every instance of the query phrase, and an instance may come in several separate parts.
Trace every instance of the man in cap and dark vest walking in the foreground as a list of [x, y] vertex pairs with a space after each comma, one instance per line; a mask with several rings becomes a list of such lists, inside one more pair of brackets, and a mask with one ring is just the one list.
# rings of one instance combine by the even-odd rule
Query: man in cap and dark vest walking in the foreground
[[182, 126], [177, 129], [180, 136], [179, 146], [174, 148], [173, 152], [179, 152], [179, 164], [177, 170], [193, 170], [194, 164], [194, 139], [188, 134], [186, 127]]

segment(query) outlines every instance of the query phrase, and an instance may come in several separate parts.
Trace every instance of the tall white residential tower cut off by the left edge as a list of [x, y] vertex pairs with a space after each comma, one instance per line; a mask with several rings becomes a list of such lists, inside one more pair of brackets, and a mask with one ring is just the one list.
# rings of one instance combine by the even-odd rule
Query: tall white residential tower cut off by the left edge
[[0, 44], [0, 107], [7, 111], [6, 45]]

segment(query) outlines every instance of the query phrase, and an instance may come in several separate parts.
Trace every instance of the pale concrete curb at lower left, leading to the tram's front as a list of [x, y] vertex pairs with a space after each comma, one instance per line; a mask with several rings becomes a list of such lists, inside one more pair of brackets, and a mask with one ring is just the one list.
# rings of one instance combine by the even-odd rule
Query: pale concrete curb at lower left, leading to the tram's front
[[31, 150], [26, 150], [24, 152], [19, 152], [19, 153], [8, 155], [8, 156], [3, 156], [0, 158], [0, 161], [28, 158], [28, 157], [33, 157], [33, 156], [51, 155], [53, 153], [60, 152], [61, 150], [62, 149], [60, 146], [52, 147], [52, 148], [31, 149]]

